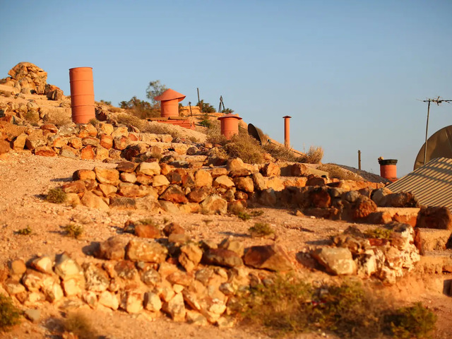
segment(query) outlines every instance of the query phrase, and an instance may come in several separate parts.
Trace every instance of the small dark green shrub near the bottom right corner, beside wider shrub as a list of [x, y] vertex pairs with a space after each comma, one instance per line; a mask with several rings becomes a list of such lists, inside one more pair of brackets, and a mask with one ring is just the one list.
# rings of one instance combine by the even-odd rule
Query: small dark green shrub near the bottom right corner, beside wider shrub
[[412, 307], [396, 309], [386, 316], [386, 323], [389, 324], [389, 331], [395, 338], [430, 338], [436, 323], [436, 315], [418, 302]]

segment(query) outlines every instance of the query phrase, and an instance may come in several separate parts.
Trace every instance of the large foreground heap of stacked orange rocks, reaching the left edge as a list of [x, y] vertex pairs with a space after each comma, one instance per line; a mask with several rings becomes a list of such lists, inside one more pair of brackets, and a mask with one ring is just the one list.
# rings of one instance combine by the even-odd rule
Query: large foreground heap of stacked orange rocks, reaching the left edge
[[237, 291], [271, 279], [270, 271], [292, 270], [280, 246], [245, 249], [231, 238], [220, 244], [194, 243], [175, 224], [165, 227], [166, 237], [159, 232], [158, 239], [112, 237], [95, 253], [101, 261], [81, 263], [66, 253], [39, 256], [27, 265], [15, 260], [0, 283], [25, 307], [69, 300], [73, 306], [78, 300], [80, 307], [121, 309], [149, 318], [164, 312], [175, 321], [230, 326], [227, 308]]

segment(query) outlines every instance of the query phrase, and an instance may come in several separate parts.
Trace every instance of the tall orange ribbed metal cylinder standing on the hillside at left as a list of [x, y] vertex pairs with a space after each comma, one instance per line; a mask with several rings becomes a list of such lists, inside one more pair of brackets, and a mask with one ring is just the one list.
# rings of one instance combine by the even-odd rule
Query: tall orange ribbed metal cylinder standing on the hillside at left
[[95, 119], [93, 67], [69, 69], [72, 121], [88, 124]]

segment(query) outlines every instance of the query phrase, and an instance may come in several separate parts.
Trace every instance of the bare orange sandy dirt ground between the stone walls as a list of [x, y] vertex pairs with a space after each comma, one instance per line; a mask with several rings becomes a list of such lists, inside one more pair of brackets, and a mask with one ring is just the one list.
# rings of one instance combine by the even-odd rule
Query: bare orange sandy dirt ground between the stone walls
[[[213, 239], [220, 242], [225, 237], [239, 237], [246, 246], [251, 244], [271, 244], [277, 242], [287, 251], [299, 271], [308, 281], [328, 281], [336, 279], [316, 270], [313, 263], [302, 260], [302, 254], [316, 246], [326, 244], [326, 239], [345, 230], [350, 223], [319, 220], [294, 215], [292, 210], [258, 208], [263, 215], [242, 221], [235, 215], [149, 215], [144, 211], [92, 210], [84, 206], [56, 205], [44, 200], [44, 194], [51, 188], [71, 180], [76, 169], [93, 169], [95, 166], [114, 167], [96, 161], [72, 160], [61, 157], [39, 157], [27, 151], [8, 153], [0, 157], [0, 265], [11, 259], [25, 261], [35, 255], [54, 255], [62, 251], [83, 262], [89, 256], [90, 245], [102, 242], [117, 234], [127, 220], [154, 218], [163, 225], [165, 222], [179, 222], [195, 240]], [[253, 239], [248, 228], [254, 222], [268, 222], [275, 230], [276, 239]], [[76, 222], [83, 225], [81, 239], [66, 237], [61, 226]], [[370, 225], [357, 225], [362, 230]], [[30, 227], [32, 234], [20, 235], [17, 231]], [[131, 235], [130, 235], [131, 237]], [[410, 273], [407, 278], [392, 287], [384, 287], [395, 302], [403, 304], [420, 301], [434, 311], [439, 320], [435, 339], [452, 338], [452, 299], [443, 294], [443, 275], [420, 275]], [[450, 279], [450, 277], [449, 277]], [[52, 328], [59, 326], [61, 310], [45, 304], [38, 323], [23, 321], [8, 333], [0, 333], [0, 338], [55, 338]], [[165, 316], [146, 319], [143, 315], [130, 315], [123, 311], [91, 310], [84, 312], [95, 323], [101, 335], [109, 339], [140, 338], [269, 338], [255, 328], [236, 326], [217, 328], [215, 326], [196, 327], [186, 323], [176, 323]], [[310, 333], [294, 338], [336, 338], [328, 333]]]

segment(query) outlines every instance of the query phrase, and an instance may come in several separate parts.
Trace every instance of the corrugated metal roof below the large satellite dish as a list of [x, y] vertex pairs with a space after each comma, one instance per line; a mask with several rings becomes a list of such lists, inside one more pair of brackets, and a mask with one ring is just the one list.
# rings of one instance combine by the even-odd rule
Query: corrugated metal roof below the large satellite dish
[[437, 157], [387, 187], [393, 193], [411, 192], [423, 206], [452, 210], [452, 159]]

